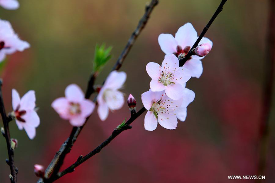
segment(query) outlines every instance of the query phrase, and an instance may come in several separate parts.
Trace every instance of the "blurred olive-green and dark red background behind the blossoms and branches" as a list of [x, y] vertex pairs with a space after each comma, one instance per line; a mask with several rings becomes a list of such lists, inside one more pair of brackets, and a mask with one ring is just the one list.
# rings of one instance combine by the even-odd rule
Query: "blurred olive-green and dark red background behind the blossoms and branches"
[[[1, 19], [9, 20], [20, 38], [31, 44], [24, 52], [7, 56], [1, 68], [6, 111], [12, 110], [12, 88], [21, 96], [33, 89], [41, 119], [34, 140], [19, 131], [14, 122], [10, 123], [11, 136], [19, 141], [15, 150], [18, 182], [36, 182], [33, 165], [47, 166], [71, 132], [71, 125], [59, 118], [51, 102], [64, 96], [68, 84], [76, 83], [86, 90], [96, 43], [113, 46], [113, 57], [96, 83], [104, 81], [147, 2], [28, 0], [20, 1], [17, 10], [0, 9]], [[157, 41], [159, 34], [174, 35], [186, 22], [191, 22], [200, 33], [219, 3], [160, 0], [121, 68], [127, 73], [123, 92], [125, 97], [134, 95], [137, 109], [142, 107], [141, 93], [149, 89], [145, 65], [150, 61], [161, 63], [164, 57]], [[267, 10], [264, 0], [226, 3], [205, 35], [214, 45], [203, 59], [200, 79], [192, 78], [187, 84], [196, 98], [188, 107], [186, 121], [179, 122], [176, 130], [158, 125], [155, 131], [145, 131], [143, 114], [131, 130], [56, 182], [215, 183], [233, 182], [228, 175], [257, 175]], [[126, 104], [110, 113], [104, 122], [95, 110], [62, 169], [99, 145], [125, 117], [130, 117]], [[271, 121], [274, 122], [274, 105]], [[265, 182], [275, 180], [274, 128], [271, 123]], [[9, 182], [4, 138], [0, 142], [0, 180]]]

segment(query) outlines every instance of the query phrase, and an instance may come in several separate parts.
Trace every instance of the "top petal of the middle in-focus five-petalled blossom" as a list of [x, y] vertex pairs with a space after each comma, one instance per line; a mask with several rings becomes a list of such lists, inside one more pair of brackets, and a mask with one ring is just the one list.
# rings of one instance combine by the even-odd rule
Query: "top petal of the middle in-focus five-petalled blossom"
[[179, 67], [178, 57], [174, 54], [165, 56], [161, 67], [162, 70], [165, 72], [169, 71], [171, 73], [174, 73]]

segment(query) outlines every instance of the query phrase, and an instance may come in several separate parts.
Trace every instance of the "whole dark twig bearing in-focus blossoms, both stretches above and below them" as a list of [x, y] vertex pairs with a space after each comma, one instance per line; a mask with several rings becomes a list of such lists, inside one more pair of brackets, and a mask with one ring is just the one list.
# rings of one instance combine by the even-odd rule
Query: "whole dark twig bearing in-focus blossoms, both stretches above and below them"
[[[226, 2], [226, 0], [222, 0], [221, 4], [219, 5], [218, 9], [222, 9], [222, 6], [224, 5], [224, 3]], [[215, 14], [218, 12], [221, 12], [221, 10], [218, 11], [218, 9], [216, 10]], [[215, 18], [217, 17], [218, 13], [213, 16], [211, 18], [211, 21], [209, 22], [213, 22], [215, 20]], [[210, 27], [211, 23], [207, 26], [208, 28]], [[208, 29], [207, 28], [207, 29]], [[207, 31], [207, 30], [206, 30]], [[206, 31], [203, 31], [201, 33], [201, 35], [199, 36], [199, 38], [197, 39], [196, 43], [195, 44], [198, 44], [198, 42], [200, 42], [199, 39], [201, 39], [205, 32]], [[193, 45], [193, 47], [196, 47], [195, 44]], [[189, 57], [188, 57], [189, 56]], [[187, 60], [190, 58], [190, 54], [186, 56]], [[180, 60], [179, 60], [180, 61]], [[70, 167], [66, 168], [65, 170], [63, 170], [61, 173], [57, 174], [55, 177], [53, 177], [53, 180], [52, 181], [55, 181], [57, 179], [59, 179], [60, 177], [64, 176], [65, 174], [68, 174], [68, 173], [71, 173], [74, 171], [74, 168], [75, 167], [78, 167], [80, 164], [82, 164], [83, 162], [85, 162], [86, 160], [88, 160], [89, 158], [91, 158], [92, 156], [94, 156], [95, 154], [97, 154], [98, 152], [101, 151], [102, 148], [104, 148], [106, 145], [108, 145], [114, 138], [116, 138], [116, 136], [118, 136], [122, 131], [125, 131], [127, 129], [130, 128], [130, 124], [136, 120], [142, 113], [144, 113], [146, 111], [145, 107], [142, 107], [137, 113], [135, 114], [131, 114], [131, 117], [130, 119], [126, 122], [126, 125], [121, 128], [121, 129], [115, 129], [113, 132], [112, 132], [112, 135], [109, 136], [109, 138], [107, 138], [103, 143], [101, 143], [101, 145], [97, 146], [97, 148], [95, 148], [93, 151], [91, 151], [89, 154], [87, 154], [86, 156], [79, 156], [79, 158], [77, 159], [77, 161], [72, 164]]]

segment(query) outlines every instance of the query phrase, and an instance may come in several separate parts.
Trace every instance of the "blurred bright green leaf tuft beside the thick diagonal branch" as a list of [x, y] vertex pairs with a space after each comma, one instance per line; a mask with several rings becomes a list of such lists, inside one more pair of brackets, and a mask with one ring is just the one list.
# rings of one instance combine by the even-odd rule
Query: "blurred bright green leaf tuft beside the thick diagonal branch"
[[101, 46], [96, 44], [93, 63], [94, 72], [100, 72], [107, 61], [112, 58], [112, 56], [110, 55], [111, 50], [112, 46], [105, 49], [105, 44], [102, 44]]

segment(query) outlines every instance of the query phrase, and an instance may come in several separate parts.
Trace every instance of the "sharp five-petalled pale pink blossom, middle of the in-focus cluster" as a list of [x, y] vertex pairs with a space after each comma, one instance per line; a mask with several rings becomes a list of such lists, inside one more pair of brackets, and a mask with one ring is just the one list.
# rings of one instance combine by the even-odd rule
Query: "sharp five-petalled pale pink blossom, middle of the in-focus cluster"
[[178, 58], [173, 54], [167, 55], [161, 66], [154, 62], [148, 63], [146, 71], [152, 78], [151, 90], [165, 90], [166, 95], [174, 100], [182, 97], [182, 84], [191, 78], [190, 71], [184, 67], [179, 67]]

